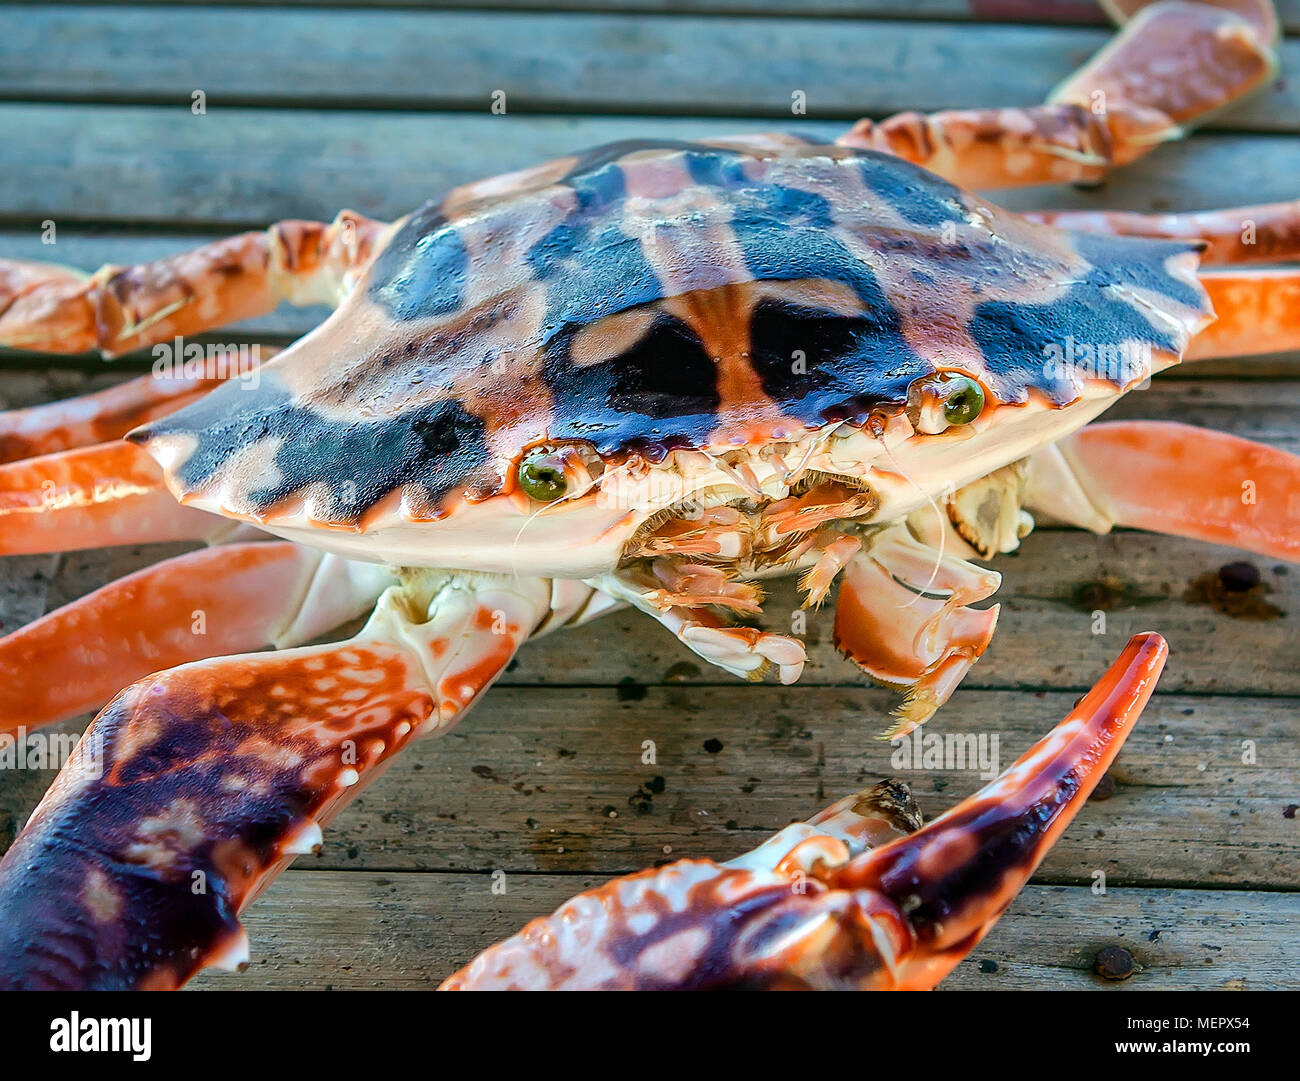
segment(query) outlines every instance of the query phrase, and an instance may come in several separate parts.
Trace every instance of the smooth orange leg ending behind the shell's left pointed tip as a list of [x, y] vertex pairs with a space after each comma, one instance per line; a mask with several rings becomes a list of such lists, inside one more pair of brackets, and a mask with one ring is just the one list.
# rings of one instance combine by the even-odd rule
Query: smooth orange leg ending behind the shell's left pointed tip
[[242, 528], [177, 503], [157, 463], [131, 443], [0, 465], [0, 555], [217, 540]]

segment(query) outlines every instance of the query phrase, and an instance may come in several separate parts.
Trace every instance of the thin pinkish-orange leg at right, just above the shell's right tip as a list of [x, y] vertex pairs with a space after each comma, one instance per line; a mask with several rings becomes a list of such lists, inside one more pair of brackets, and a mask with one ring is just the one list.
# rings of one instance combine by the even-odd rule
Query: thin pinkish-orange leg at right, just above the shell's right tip
[[1026, 210], [1020, 217], [1040, 225], [1149, 236], [1161, 240], [1204, 240], [1205, 266], [1283, 262], [1300, 259], [1300, 199], [1225, 210], [1141, 214], [1131, 210]]

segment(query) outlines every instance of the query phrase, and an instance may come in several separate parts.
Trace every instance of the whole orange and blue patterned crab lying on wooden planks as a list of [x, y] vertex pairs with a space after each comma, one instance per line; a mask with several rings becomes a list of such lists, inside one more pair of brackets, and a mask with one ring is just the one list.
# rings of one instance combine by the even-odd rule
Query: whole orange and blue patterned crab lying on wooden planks
[[[525, 641], [615, 607], [793, 682], [800, 638], [746, 617], [772, 576], [800, 574], [810, 608], [838, 582], [836, 641], [902, 691], [898, 735], [988, 646], [982, 563], [1031, 511], [1296, 560], [1300, 459], [1088, 422], [1182, 360], [1300, 346], [1300, 278], [1247, 265], [1300, 255], [1300, 205], [1018, 216], [970, 191], [1097, 182], [1271, 78], [1266, 3], [1112, 6], [1118, 38], [1048, 105], [829, 143], [619, 143], [395, 222], [280, 222], [91, 277], [0, 262], [0, 343], [162, 346], [151, 375], [0, 418], [0, 551], [208, 542], [0, 639], [5, 729], [108, 702], [0, 861], [0, 986], [177, 987], [244, 964], [239, 913], [330, 816]], [[283, 300], [335, 311], [256, 366], [168, 361]], [[1156, 647], [1134, 648], [1149, 676]], [[1062, 781], [1031, 752], [1046, 772], [980, 806], [1014, 817], [1030, 774], [1063, 800], [1098, 755]], [[844, 817], [809, 826], [809, 904], [893, 912], [900, 937], [872, 942], [889, 971], [922, 943], [907, 986], [978, 941], [1056, 835], [1026, 837], [991, 894], [1011, 856], [989, 837], [965, 834], [942, 877], [946, 858], [913, 859], [944, 851], [941, 829], [863, 861]], [[772, 874], [800, 863], [781, 837]], [[976, 913], [956, 938], [898, 907], [893, 859], [913, 893]], [[742, 894], [711, 897], [734, 915]], [[879, 965], [852, 942], [861, 963], [794, 968], [767, 943], [737, 978], [862, 982]]]

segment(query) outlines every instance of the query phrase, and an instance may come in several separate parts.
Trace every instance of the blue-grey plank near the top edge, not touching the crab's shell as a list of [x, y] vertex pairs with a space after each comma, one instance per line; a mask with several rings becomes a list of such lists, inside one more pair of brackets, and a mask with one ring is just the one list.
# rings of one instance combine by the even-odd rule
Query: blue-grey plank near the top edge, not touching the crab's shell
[[[486, 112], [503, 91], [512, 112], [789, 117], [798, 90], [810, 116], [844, 118], [1041, 101], [1112, 36], [900, 21], [191, 6], [10, 6], [0, 27], [0, 96], [21, 100], [188, 109], [203, 90], [212, 108]], [[1280, 52], [1284, 70], [1300, 68], [1300, 42]], [[1213, 126], [1295, 131], [1300, 87], [1279, 82]]]

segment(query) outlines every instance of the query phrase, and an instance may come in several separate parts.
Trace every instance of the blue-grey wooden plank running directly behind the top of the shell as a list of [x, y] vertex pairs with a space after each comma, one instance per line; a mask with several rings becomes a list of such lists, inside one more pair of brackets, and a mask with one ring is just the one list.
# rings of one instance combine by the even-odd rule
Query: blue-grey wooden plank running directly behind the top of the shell
[[[780, 125], [798, 130], [794, 123]], [[352, 207], [404, 214], [455, 184], [624, 138], [692, 139], [771, 122], [285, 109], [0, 105], [0, 222], [238, 229]], [[824, 135], [827, 125], [803, 125]], [[1161, 147], [1095, 191], [1000, 192], [1027, 207], [1135, 210], [1294, 199], [1296, 142], [1197, 135]], [[43, 253], [48, 257], [48, 252]]]

